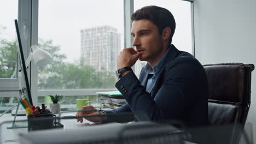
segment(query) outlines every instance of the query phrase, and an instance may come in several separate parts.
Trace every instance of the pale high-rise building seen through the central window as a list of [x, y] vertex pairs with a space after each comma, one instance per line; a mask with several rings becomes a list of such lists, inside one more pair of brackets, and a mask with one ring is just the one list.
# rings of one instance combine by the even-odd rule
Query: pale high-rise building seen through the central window
[[121, 34], [110, 26], [92, 27], [80, 30], [81, 58], [85, 65], [92, 65], [97, 71], [106, 69], [115, 75], [117, 58], [121, 47]]

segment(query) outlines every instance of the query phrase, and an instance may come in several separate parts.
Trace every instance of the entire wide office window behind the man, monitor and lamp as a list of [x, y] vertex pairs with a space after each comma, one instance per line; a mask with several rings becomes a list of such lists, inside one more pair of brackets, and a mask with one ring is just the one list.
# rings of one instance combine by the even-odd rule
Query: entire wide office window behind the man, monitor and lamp
[[[0, 111], [17, 102], [15, 96], [19, 90], [15, 72], [14, 19], [18, 19], [24, 34], [25, 57], [33, 44], [38, 44], [54, 57], [54, 62], [46, 67], [37, 70], [32, 64], [32, 69], [28, 69], [34, 104], [37, 100], [48, 104], [49, 98], [45, 96], [60, 94], [65, 96], [62, 104], [67, 110], [75, 107], [77, 98], [88, 98], [94, 103], [97, 98], [90, 95], [115, 89], [117, 57], [121, 49], [131, 46], [130, 13], [133, 6], [134, 10], [146, 5], [170, 10], [177, 24], [173, 44], [179, 50], [192, 53], [190, 2], [135, 0], [133, 4], [132, 0], [9, 0], [0, 4], [4, 5], [0, 9]], [[10, 49], [5, 49], [5, 44]], [[4, 59], [3, 55], [11, 60]], [[145, 64], [138, 62], [135, 65], [137, 75]]]

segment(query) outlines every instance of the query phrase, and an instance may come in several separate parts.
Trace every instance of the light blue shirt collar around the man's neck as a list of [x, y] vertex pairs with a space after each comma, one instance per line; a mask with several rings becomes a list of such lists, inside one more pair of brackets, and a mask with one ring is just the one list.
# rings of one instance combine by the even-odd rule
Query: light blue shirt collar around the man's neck
[[152, 67], [147, 63], [146, 66], [145, 66], [145, 71], [146, 73], [148, 74], [155, 74], [157, 73], [161, 68], [162, 68], [162, 65], [164, 64], [164, 61], [165, 61], [165, 58], [166, 58], [166, 55], [168, 53], [168, 51], [170, 51], [170, 47], [168, 48], [168, 50], [165, 52], [164, 56], [162, 56], [159, 61], [155, 64], [155, 67], [154, 69], [152, 69]]

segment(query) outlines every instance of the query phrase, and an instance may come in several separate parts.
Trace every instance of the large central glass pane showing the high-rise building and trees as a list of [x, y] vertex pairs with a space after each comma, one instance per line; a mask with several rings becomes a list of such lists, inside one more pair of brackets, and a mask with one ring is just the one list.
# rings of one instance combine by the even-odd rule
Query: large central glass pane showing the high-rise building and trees
[[123, 1], [39, 1], [39, 47], [54, 62], [39, 69], [39, 89], [114, 88], [124, 45]]

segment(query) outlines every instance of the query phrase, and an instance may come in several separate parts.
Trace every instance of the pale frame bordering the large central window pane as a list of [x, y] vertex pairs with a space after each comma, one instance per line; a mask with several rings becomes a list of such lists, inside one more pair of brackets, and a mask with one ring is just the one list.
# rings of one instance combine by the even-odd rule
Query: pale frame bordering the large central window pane
[[[32, 4], [32, 44], [38, 44], [38, 0], [33, 1]], [[131, 5], [132, 3], [132, 5]], [[132, 7], [132, 8], [131, 8]], [[131, 42], [131, 20], [130, 16], [125, 15], [125, 10], [130, 11], [129, 14], [133, 13], [133, 0], [124, 0], [124, 39], [130, 37], [129, 43]], [[127, 25], [127, 27], [126, 27]], [[128, 32], [126, 32], [128, 31]], [[129, 37], [126, 37], [126, 35], [129, 35]], [[129, 45], [124, 42], [124, 46]], [[33, 99], [33, 104], [37, 105], [38, 104], [38, 97], [43, 97], [47, 95], [52, 95], [58, 94], [58, 95], [63, 95], [63, 96], [88, 96], [88, 95], [96, 95], [96, 92], [106, 92], [106, 91], [117, 91], [117, 89], [50, 89], [50, 90], [38, 90], [38, 69], [34, 63], [31, 65], [32, 67], [32, 73], [31, 77], [31, 94], [32, 94], [32, 99]]]

